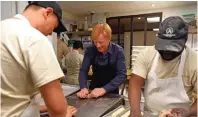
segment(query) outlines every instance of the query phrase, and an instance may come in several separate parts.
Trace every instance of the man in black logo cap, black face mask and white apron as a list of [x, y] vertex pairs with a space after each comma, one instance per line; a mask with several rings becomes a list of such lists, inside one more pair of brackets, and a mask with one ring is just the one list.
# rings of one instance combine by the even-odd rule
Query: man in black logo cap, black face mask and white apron
[[172, 109], [181, 117], [197, 113], [197, 53], [185, 46], [188, 25], [179, 16], [166, 18], [159, 26], [155, 46], [137, 57], [129, 81], [130, 117], [140, 117], [141, 88], [144, 111], [157, 115]]

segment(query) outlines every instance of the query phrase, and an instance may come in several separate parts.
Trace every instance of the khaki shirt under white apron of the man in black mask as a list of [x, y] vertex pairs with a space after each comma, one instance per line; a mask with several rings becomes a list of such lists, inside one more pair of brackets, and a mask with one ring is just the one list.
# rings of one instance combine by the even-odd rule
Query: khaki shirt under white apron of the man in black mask
[[[156, 52], [154, 46], [142, 50], [135, 61], [132, 73], [147, 79]], [[181, 55], [172, 61], [164, 61], [160, 56], [155, 70], [156, 75], [161, 79], [177, 76], [180, 59]], [[197, 52], [189, 47], [186, 48], [183, 83], [186, 93], [192, 101], [193, 92], [197, 93]]]

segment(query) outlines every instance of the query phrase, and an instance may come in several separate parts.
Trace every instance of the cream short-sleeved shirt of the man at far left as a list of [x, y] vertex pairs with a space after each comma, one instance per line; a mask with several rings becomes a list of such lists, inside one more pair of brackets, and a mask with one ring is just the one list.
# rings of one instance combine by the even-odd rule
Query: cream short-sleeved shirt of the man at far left
[[1, 117], [18, 117], [62, 70], [52, 44], [22, 15], [1, 21]]

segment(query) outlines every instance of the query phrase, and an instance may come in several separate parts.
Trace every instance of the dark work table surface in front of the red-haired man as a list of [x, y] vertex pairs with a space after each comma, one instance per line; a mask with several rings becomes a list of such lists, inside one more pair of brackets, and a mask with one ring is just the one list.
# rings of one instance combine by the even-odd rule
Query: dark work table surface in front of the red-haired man
[[[102, 117], [109, 111], [123, 103], [123, 97], [116, 94], [107, 94], [97, 99], [80, 99], [73, 94], [67, 97], [67, 102], [77, 108], [75, 117]], [[48, 117], [43, 114], [41, 117]]]

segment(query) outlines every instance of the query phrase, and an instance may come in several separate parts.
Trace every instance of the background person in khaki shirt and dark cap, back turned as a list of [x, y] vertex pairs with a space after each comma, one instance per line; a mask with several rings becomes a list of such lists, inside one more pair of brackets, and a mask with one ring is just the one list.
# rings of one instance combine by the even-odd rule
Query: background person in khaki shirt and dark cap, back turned
[[66, 55], [65, 64], [67, 67], [67, 76], [65, 83], [78, 85], [78, 75], [83, 61], [83, 55], [80, 54], [83, 45], [81, 41], [74, 41], [73, 50]]

